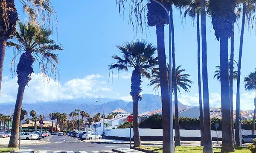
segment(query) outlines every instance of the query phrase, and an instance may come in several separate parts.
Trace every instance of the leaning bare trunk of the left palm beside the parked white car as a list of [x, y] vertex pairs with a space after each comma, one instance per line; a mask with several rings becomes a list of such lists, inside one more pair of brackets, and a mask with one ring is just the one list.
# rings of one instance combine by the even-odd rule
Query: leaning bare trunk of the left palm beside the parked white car
[[15, 104], [15, 110], [13, 114], [12, 121], [12, 132], [8, 147], [17, 148], [19, 146], [19, 128], [20, 128], [20, 111], [22, 106], [23, 94], [25, 90], [25, 85], [19, 85], [18, 94]]

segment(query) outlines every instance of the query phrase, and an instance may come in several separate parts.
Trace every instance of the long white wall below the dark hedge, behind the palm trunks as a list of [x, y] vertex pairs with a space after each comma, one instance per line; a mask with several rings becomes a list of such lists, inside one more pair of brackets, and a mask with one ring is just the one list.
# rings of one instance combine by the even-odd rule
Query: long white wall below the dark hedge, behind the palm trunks
[[[139, 129], [140, 136], [163, 136], [162, 129]], [[211, 131], [212, 137], [215, 138], [216, 131]], [[252, 130], [242, 130], [242, 135], [250, 135]], [[175, 136], [175, 130], [173, 130]], [[106, 129], [105, 136], [118, 136], [118, 137], [130, 137], [130, 129]], [[180, 136], [182, 137], [201, 137], [200, 130], [180, 130]], [[221, 131], [218, 131], [218, 138], [221, 138]], [[133, 129], [131, 129], [131, 137], [133, 137]]]

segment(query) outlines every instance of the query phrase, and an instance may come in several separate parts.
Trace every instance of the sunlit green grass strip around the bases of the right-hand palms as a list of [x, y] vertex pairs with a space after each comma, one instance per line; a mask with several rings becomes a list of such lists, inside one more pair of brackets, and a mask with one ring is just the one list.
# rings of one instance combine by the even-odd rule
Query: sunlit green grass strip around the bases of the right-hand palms
[[[137, 147], [144, 150], [150, 150], [157, 153], [163, 153], [162, 147], [150, 147], [150, 146], [141, 146]], [[222, 153], [220, 147], [213, 147], [214, 153]], [[203, 147], [175, 147], [175, 153], [202, 153]], [[236, 151], [233, 153], [251, 153], [246, 147], [237, 147]]]

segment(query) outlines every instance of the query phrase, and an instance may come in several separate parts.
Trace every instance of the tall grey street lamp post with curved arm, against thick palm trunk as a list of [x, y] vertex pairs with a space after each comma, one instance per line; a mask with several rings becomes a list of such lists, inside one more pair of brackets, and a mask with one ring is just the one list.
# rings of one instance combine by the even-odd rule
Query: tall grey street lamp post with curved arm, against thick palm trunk
[[174, 153], [174, 140], [173, 140], [173, 112], [172, 112], [172, 41], [171, 41], [171, 17], [169, 14], [169, 11], [167, 8], [157, 0], [151, 0], [154, 1], [155, 3], [158, 3], [160, 6], [164, 8], [166, 11], [166, 14], [168, 15], [168, 20], [169, 20], [169, 93], [170, 93], [170, 147], [171, 147], [171, 152]]

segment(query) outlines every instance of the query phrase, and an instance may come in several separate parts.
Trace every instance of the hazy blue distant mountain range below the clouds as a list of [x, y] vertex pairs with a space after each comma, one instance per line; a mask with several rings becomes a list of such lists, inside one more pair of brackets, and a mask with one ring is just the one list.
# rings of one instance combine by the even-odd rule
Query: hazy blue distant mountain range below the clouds
[[[139, 113], [146, 111], [154, 111], [156, 109], [162, 108], [161, 96], [153, 94], [143, 94], [143, 99], [139, 101]], [[63, 100], [55, 102], [38, 102], [27, 104], [24, 103], [22, 108], [26, 111], [35, 110], [37, 115], [43, 114], [49, 120], [48, 115], [52, 112], [67, 113], [74, 111], [75, 109], [84, 110], [91, 115], [98, 112], [102, 113], [102, 105], [99, 102], [94, 102], [94, 100], [99, 100], [104, 103], [104, 113], [108, 114], [113, 110], [121, 108], [129, 113], [133, 111], [133, 102], [125, 102], [123, 100], [109, 99], [109, 98], [86, 98], [86, 99], [73, 99], [73, 100]], [[15, 104], [0, 104], [0, 113], [5, 115], [11, 115], [14, 111]], [[184, 110], [188, 106], [183, 105], [179, 102], [179, 110]], [[29, 117], [29, 116], [27, 116]]]

